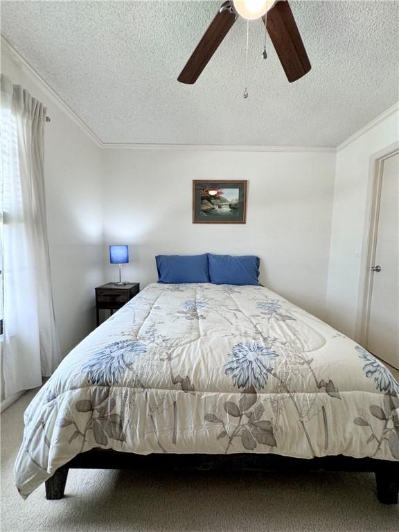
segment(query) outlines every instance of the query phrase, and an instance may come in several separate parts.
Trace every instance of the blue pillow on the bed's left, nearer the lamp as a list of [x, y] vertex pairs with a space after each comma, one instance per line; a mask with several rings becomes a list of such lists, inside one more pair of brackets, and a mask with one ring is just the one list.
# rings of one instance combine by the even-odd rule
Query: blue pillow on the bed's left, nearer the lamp
[[209, 283], [208, 255], [158, 255], [158, 283]]

